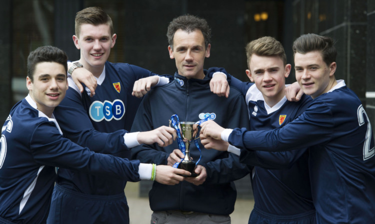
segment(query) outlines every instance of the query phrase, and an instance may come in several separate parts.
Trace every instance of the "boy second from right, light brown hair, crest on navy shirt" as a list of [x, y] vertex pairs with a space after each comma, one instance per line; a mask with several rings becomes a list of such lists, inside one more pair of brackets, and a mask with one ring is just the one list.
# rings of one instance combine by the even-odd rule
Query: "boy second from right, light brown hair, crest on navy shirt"
[[[231, 86], [245, 96], [250, 130], [284, 127], [308, 107], [311, 98], [303, 95], [299, 102], [286, 100], [285, 78], [291, 66], [286, 62], [284, 48], [279, 41], [264, 36], [249, 42], [245, 49], [246, 74], [255, 85], [231, 76]], [[208, 138], [201, 142], [208, 149], [228, 148], [228, 143], [222, 140]], [[251, 186], [255, 204], [249, 224], [316, 223], [306, 148], [269, 153], [239, 151], [230, 145], [228, 151], [238, 154], [242, 163], [253, 167]]]

